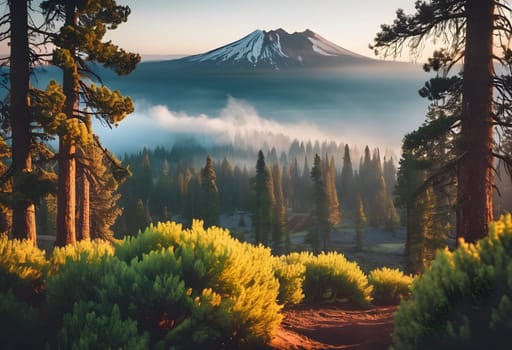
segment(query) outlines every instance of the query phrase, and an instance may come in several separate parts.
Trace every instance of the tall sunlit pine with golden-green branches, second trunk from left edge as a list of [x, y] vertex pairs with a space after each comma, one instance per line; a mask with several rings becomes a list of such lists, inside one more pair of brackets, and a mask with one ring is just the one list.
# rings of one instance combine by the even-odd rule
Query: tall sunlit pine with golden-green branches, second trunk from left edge
[[[130, 14], [127, 6], [116, 1], [46, 0], [41, 3], [46, 19], [63, 23], [59, 33], [52, 33], [55, 46], [53, 63], [63, 71], [66, 95], [59, 134], [59, 184], [57, 210], [58, 246], [76, 241], [76, 147], [92, 141], [91, 115], [108, 125], [117, 124], [133, 111], [129, 98], [104, 86], [88, 85], [82, 76], [94, 77], [87, 60], [114, 68], [118, 74], [131, 72], [140, 56], [126, 53], [110, 41], [103, 42], [107, 29], [115, 29]], [[85, 103], [87, 109], [81, 109]], [[86, 181], [85, 177], [82, 177]], [[82, 189], [88, 188], [82, 186]], [[89, 193], [81, 193], [86, 200]], [[85, 208], [85, 205], [81, 206]], [[84, 222], [87, 219], [83, 220]]]

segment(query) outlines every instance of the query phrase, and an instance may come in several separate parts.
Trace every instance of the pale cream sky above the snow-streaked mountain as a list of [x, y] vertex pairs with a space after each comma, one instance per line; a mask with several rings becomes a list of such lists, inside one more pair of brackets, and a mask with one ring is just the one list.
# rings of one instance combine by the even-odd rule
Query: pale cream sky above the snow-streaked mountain
[[238, 40], [255, 29], [311, 29], [354, 52], [368, 48], [380, 24], [414, 0], [118, 0], [129, 5], [127, 23], [109, 34], [141, 54], [196, 54]]

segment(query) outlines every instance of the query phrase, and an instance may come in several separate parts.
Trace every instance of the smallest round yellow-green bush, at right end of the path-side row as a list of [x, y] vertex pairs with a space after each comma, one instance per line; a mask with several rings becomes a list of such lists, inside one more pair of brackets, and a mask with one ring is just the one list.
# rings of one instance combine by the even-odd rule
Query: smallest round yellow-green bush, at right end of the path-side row
[[411, 295], [413, 278], [398, 269], [383, 267], [370, 272], [372, 298], [376, 305], [395, 305]]

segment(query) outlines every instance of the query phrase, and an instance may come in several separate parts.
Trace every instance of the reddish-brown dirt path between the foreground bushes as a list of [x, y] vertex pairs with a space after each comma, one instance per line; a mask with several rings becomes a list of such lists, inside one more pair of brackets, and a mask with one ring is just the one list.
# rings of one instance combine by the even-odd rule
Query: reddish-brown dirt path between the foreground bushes
[[391, 344], [397, 306], [366, 310], [298, 306], [285, 310], [271, 349], [384, 350]]

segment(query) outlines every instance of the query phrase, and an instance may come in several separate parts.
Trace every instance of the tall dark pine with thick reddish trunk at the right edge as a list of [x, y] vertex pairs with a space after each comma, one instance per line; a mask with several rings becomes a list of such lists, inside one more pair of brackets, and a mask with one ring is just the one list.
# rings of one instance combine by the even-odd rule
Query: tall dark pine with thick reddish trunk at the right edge
[[[454, 161], [457, 237], [474, 242], [487, 235], [493, 219], [494, 158], [512, 164], [509, 155], [494, 146], [495, 141], [501, 141], [494, 138], [494, 126], [510, 128], [507, 119], [511, 113], [506, 106], [512, 97], [508, 83], [512, 55], [508, 45], [502, 45], [501, 50], [499, 46], [511, 38], [511, 9], [501, 0], [417, 1], [415, 7], [413, 15], [398, 10], [394, 23], [381, 27], [374, 47], [385, 54], [396, 54], [409, 44], [414, 51], [442, 34], [447, 47], [435, 51], [425, 68], [441, 71], [446, 77], [450, 68], [463, 62], [461, 114], [451, 124], [460, 130]], [[494, 62], [500, 69], [494, 69]], [[495, 73], [504, 70], [506, 75]], [[499, 96], [493, 101], [495, 91]]]

